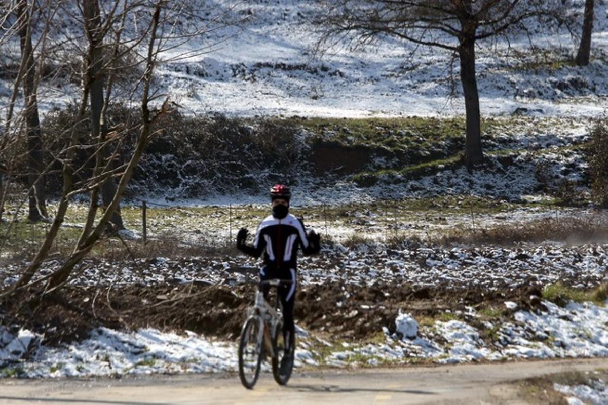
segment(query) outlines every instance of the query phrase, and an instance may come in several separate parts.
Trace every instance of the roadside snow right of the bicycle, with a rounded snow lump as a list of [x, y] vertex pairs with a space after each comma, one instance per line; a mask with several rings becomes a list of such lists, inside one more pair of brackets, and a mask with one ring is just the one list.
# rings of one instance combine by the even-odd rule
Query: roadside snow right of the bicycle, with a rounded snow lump
[[511, 322], [485, 321], [492, 341], [484, 340], [480, 330], [468, 323], [477, 318], [470, 308], [468, 313], [456, 314], [464, 320], [435, 321], [420, 327], [417, 336], [389, 335], [385, 328], [383, 344], [350, 347], [347, 352], [333, 353], [328, 364], [345, 365], [350, 359], [378, 364], [420, 359], [455, 363], [481, 359], [608, 357], [608, 308], [605, 305], [570, 302], [562, 308], [548, 301], [542, 301], [542, 305], [544, 309], [537, 311], [516, 311]]

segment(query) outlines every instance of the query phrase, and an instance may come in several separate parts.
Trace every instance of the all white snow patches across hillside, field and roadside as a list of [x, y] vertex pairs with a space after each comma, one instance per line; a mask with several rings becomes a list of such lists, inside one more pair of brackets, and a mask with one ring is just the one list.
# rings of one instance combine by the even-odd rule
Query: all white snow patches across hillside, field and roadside
[[[229, 1], [216, 4], [228, 7]], [[263, 5], [261, 5], [264, 3]], [[322, 60], [311, 58], [309, 48], [314, 44], [311, 26], [303, 15], [313, 11], [309, 1], [282, 0], [271, 2], [242, 2], [238, 12], [252, 7], [254, 19], [221, 43], [215, 52], [189, 58], [179, 63], [159, 67], [156, 82], [170, 94], [171, 100], [185, 112], [202, 114], [223, 112], [230, 115], [305, 115], [320, 117], [381, 117], [398, 115], [454, 115], [464, 111], [461, 97], [451, 101], [449, 69], [450, 55], [437, 50], [420, 49], [415, 58], [408, 58], [412, 47], [391, 39], [379, 43], [376, 50], [336, 49]], [[596, 5], [597, 24], [589, 67], [564, 64], [556, 69], [543, 67], [552, 61], [563, 61], [573, 55], [572, 41], [566, 36], [539, 36], [548, 50], [547, 61], [537, 55], [527, 56], [525, 63], [511, 58], [492, 56], [488, 47], [480, 47], [478, 55], [478, 87], [482, 114], [504, 115], [520, 109], [522, 114], [536, 117], [581, 116], [594, 117], [605, 113], [608, 96], [606, 54], [608, 46], [607, 5]], [[218, 35], [226, 35], [218, 33]], [[219, 38], [216, 37], [216, 38]], [[61, 38], [60, 38], [61, 39]], [[513, 41], [513, 46], [525, 50], [527, 39]], [[191, 44], [189, 47], [195, 46]], [[497, 45], [500, 49], [501, 45]], [[190, 48], [191, 49], [191, 48]], [[175, 50], [175, 52], [183, 52]], [[187, 50], [187, 49], [185, 49]], [[504, 49], [501, 49], [504, 50]], [[6, 55], [5, 55], [6, 56]], [[506, 66], [506, 62], [511, 64]], [[536, 63], [537, 68], [526, 67]], [[513, 67], [515, 66], [515, 67]], [[457, 73], [457, 72], [456, 72]], [[11, 84], [0, 81], [0, 111], [7, 106]], [[63, 106], [78, 94], [73, 84], [42, 83], [39, 97], [41, 110]], [[534, 124], [532, 124], [534, 126]], [[582, 126], [574, 130], [539, 129], [507, 137], [513, 149], [554, 148], [582, 143], [587, 140]], [[490, 140], [496, 141], [496, 140]], [[504, 140], [503, 140], [504, 141]], [[425, 197], [438, 194], [473, 194], [525, 199], [537, 187], [534, 172], [542, 159], [554, 159], [555, 151], [540, 154], [529, 152], [516, 158], [517, 165], [502, 168], [496, 160], [496, 170], [471, 176], [464, 169], [444, 170], [437, 175], [409, 180], [404, 187], [395, 188], [387, 196], [385, 186], [359, 188], [352, 182], [339, 181], [331, 190], [316, 183], [299, 185], [302, 205], [319, 203], [373, 202], [379, 197]], [[560, 154], [558, 167], [565, 178], [579, 180], [585, 163], [579, 152]], [[337, 200], [336, 200], [337, 197]], [[196, 204], [228, 205], [229, 203], [265, 203], [266, 196], [232, 199], [215, 196]], [[163, 203], [166, 203], [164, 200]], [[182, 202], [180, 202], [182, 203]], [[188, 202], [192, 204], [192, 201]], [[514, 217], [537, 216], [525, 211]], [[354, 219], [365, 226], [375, 242], [348, 248], [334, 243], [323, 256], [302, 260], [299, 274], [303, 285], [342, 281], [368, 285], [375, 281], [391, 281], [395, 285], [451, 285], [482, 289], [511, 288], [536, 281], [576, 281], [577, 287], [595, 287], [608, 280], [607, 245], [601, 243], [569, 246], [555, 243], [519, 245], [517, 247], [454, 247], [416, 245], [389, 248], [378, 243], [385, 231], [372, 216]], [[353, 220], [354, 220], [353, 219]], [[486, 221], [496, 220], [496, 216]], [[464, 217], [461, 223], [466, 223]], [[480, 220], [484, 220], [483, 217]], [[188, 220], [186, 228], [196, 228]], [[443, 221], [441, 221], [443, 222]], [[322, 229], [322, 219], [311, 221]], [[449, 223], [449, 226], [455, 226]], [[333, 232], [350, 236], [352, 223]], [[374, 228], [376, 226], [376, 228]], [[225, 237], [225, 228], [210, 228], [215, 237]], [[235, 227], [236, 229], [236, 227]], [[154, 231], [153, 231], [154, 232]], [[137, 235], [135, 235], [137, 236]], [[154, 234], [152, 234], [154, 236]], [[200, 239], [186, 234], [191, 242]], [[245, 264], [245, 265], [243, 265]], [[58, 265], [49, 262], [40, 275], [48, 274]], [[88, 259], [85, 269], [73, 282], [95, 284], [172, 284], [193, 280], [210, 284], [236, 284], [255, 277], [255, 262], [242, 257], [192, 257], [188, 259], [156, 259], [120, 262]], [[15, 281], [21, 267], [8, 267], [4, 283]], [[327, 364], [345, 365], [364, 359], [367, 364], [383, 361], [433, 359], [437, 362], [460, 362], [474, 359], [548, 358], [561, 356], [607, 356], [608, 313], [594, 304], [568, 304], [561, 308], [543, 302], [544, 311], [517, 311], [505, 324], [489, 324], [497, 336], [496, 342], [484, 341], [481, 331], [464, 319], [435, 321], [430, 327], [419, 326], [416, 320], [401, 314], [400, 329], [408, 337], [385, 336], [383, 344], [357, 347], [345, 344], [333, 353]], [[379, 325], [380, 327], [380, 325]], [[297, 364], [316, 364], [317, 352], [308, 342], [313, 336], [300, 336]], [[0, 330], [0, 362], [3, 375], [78, 376], [150, 372], [216, 372], [234, 370], [235, 347], [229, 342], [210, 341], [193, 333], [176, 335], [153, 329], [137, 332], [117, 332], [100, 328], [88, 339], [61, 347], [40, 347], [39, 337], [27, 330]], [[26, 359], [24, 359], [26, 358]], [[359, 361], [359, 360], [357, 360]], [[14, 373], [14, 374], [13, 374]], [[584, 389], [567, 387], [573, 396], [585, 401], [604, 398], [597, 392], [584, 396]], [[576, 392], [576, 394], [575, 394]], [[586, 395], [586, 394], [585, 394]]]

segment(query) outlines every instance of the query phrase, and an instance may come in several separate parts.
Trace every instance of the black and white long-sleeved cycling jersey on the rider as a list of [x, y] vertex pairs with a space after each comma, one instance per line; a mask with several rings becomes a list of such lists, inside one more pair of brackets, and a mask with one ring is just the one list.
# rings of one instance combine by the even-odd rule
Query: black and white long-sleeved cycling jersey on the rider
[[270, 215], [258, 226], [254, 245], [239, 247], [244, 253], [260, 257], [264, 253], [264, 265], [277, 270], [297, 267], [297, 253], [302, 248], [304, 254], [314, 254], [319, 246], [311, 245], [304, 223], [292, 214], [283, 219]]

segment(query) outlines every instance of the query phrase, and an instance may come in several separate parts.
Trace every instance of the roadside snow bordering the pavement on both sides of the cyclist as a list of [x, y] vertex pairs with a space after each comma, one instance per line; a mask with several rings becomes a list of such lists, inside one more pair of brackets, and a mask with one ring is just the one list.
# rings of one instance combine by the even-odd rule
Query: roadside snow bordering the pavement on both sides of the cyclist
[[[435, 321], [432, 325], [419, 326], [410, 315], [399, 313], [398, 332], [405, 330], [406, 335], [401, 332], [390, 335], [384, 328], [385, 342], [379, 344], [342, 342], [333, 346], [299, 328], [295, 366], [608, 356], [608, 308], [603, 305], [570, 302], [562, 308], [542, 301], [541, 309], [536, 311], [515, 311], [511, 322], [495, 325], [486, 321], [486, 328], [494, 331], [493, 341], [484, 340], [480, 330], [469, 324], [468, 321], [477, 317], [472, 308], [456, 315], [462, 320]], [[0, 365], [4, 376], [60, 377], [237, 369], [235, 344], [210, 341], [188, 331], [176, 335], [151, 328], [137, 332], [98, 328], [84, 341], [52, 348], [38, 345], [39, 336], [28, 331], [11, 333], [4, 329], [0, 332]], [[316, 349], [319, 344], [331, 347], [330, 354], [323, 357]], [[264, 370], [268, 371], [268, 366], [264, 366]], [[594, 392], [589, 387], [562, 389], [586, 401], [592, 400], [593, 395], [605, 398], [601, 396], [605, 393]]]

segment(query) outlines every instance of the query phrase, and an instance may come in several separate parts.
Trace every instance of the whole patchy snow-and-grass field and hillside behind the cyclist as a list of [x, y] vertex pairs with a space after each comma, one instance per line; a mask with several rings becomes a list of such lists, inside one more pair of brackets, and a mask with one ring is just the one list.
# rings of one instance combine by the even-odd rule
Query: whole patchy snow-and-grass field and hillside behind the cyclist
[[[596, 2], [587, 67], [572, 63], [570, 35], [542, 27], [535, 50], [527, 38], [480, 44], [487, 167], [472, 172], [454, 158], [464, 105], [460, 86], [449, 97], [449, 53], [411, 56], [411, 44], [382, 39], [321, 57], [305, 18], [313, 2], [215, 3], [252, 17], [210, 34], [208, 53], [161, 65], [156, 84], [187, 117], [220, 113], [255, 130], [266, 119], [289, 124], [307, 158], [289, 174], [252, 169], [255, 185], [226, 192], [224, 178], [188, 174], [190, 162], [173, 152], [144, 157], [145, 168], [165, 172], [136, 176], [121, 208], [126, 231], [102, 239], [65, 288], [85, 315], [55, 303], [32, 319], [2, 319], [0, 376], [237, 370], [259, 262], [234, 238], [269, 214], [264, 182], [282, 178], [294, 189], [292, 213], [323, 245], [298, 269], [297, 369], [608, 356], [608, 212], [590, 202], [586, 149], [608, 107], [605, 1]], [[1, 79], [0, 110], [10, 89]], [[41, 92], [46, 113], [78, 87], [43, 82]], [[357, 162], [357, 151], [371, 157]], [[29, 223], [22, 202], [13, 192], [0, 222], [0, 290], [50, 226]], [[37, 277], [71, 253], [86, 209], [86, 196], [74, 199]], [[568, 403], [606, 403], [605, 379], [535, 384]]]

